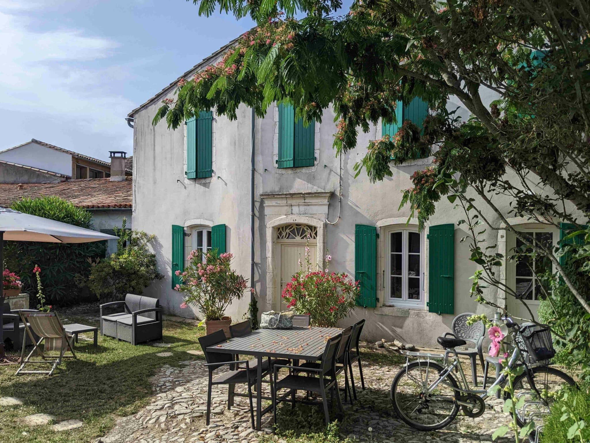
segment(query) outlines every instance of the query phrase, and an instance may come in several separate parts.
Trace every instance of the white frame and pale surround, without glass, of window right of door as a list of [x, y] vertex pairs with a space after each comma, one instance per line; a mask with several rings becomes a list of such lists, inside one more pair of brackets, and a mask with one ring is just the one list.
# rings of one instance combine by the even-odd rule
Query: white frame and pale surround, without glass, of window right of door
[[[391, 234], [401, 232], [402, 233], [402, 298], [392, 298], [391, 297]], [[420, 236], [420, 271], [419, 271], [419, 294], [420, 298], [418, 300], [408, 299], [408, 280], [410, 277], [408, 275], [408, 257], [410, 253], [408, 252], [408, 233], [418, 233]], [[424, 277], [425, 277], [425, 248], [424, 248], [424, 233], [418, 232], [418, 227], [412, 226], [398, 226], [398, 227], [389, 227], [385, 229], [385, 270], [384, 276], [385, 281], [383, 282], [383, 288], [385, 289], [385, 294], [383, 294], [383, 301], [385, 302], [386, 306], [394, 306], [400, 308], [424, 308], [425, 302], [425, 295], [424, 295]], [[418, 278], [417, 278], [418, 279]]]

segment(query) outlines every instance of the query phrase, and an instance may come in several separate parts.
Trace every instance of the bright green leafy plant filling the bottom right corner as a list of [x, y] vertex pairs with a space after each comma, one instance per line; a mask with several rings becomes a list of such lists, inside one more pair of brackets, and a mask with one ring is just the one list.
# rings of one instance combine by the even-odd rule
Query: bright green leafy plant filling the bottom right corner
[[[579, 442], [590, 439], [588, 387], [589, 385], [585, 385], [579, 390], [568, 390], [562, 398], [551, 405], [551, 415], [543, 421], [545, 428], [541, 434], [541, 443]], [[584, 425], [582, 425], [580, 436], [578, 429], [582, 421]]]

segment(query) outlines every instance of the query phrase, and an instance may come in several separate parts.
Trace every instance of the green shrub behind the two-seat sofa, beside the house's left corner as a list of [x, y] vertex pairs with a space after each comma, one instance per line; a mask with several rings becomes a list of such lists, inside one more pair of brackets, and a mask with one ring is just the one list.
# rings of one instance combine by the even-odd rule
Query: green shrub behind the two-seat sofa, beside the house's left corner
[[142, 294], [143, 289], [163, 275], [156, 268], [156, 255], [148, 245], [155, 239], [140, 230], [126, 229], [123, 219], [121, 228], [114, 227], [117, 252], [105, 259], [92, 263], [89, 278], [78, 279], [79, 285], [86, 285], [102, 301], [123, 299], [126, 294]]

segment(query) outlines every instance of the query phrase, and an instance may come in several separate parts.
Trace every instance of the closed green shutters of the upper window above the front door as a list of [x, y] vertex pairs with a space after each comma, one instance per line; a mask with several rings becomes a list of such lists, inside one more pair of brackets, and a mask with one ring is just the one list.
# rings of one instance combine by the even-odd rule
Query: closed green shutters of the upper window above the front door
[[313, 166], [316, 160], [315, 120], [304, 125], [303, 119], [295, 118], [292, 105], [278, 105], [278, 167], [299, 168]]

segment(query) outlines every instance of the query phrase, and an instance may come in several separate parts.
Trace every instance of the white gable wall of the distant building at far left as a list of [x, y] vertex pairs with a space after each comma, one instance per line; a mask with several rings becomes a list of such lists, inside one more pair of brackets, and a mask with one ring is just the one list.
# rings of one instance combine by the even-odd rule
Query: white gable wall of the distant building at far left
[[18, 146], [18, 148], [2, 152], [0, 160], [32, 166], [45, 171], [59, 172], [70, 177], [72, 175], [72, 158], [70, 154], [55, 151], [55, 149], [38, 145], [35, 142], [29, 142]]

